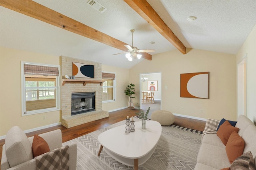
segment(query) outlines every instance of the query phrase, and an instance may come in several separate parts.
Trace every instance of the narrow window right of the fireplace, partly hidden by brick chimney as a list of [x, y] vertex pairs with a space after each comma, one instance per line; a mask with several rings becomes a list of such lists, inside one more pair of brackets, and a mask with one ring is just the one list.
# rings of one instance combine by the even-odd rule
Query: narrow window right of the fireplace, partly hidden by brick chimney
[[102, 72], [102, 103], [116, 100], [116, 74]]

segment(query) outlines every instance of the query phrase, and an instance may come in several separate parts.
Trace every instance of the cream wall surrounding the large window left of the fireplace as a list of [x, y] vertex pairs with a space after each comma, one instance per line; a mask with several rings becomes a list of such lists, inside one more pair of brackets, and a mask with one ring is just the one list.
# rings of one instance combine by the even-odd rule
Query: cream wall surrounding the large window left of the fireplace
[[57, 56], [0, 48], [0, 136], [16, 125], [28, 130], [60, 122], [60, 111], [21, 116], [21, 61], [60, 65]]

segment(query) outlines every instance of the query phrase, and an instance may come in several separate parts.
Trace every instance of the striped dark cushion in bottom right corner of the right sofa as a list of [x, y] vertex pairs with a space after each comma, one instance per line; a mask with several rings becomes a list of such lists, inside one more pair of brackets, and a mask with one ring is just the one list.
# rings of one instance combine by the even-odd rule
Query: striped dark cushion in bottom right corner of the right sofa
[[255, 170], [252, 153], [246, 152], [234, 160], [230, 166], [230, 170]]

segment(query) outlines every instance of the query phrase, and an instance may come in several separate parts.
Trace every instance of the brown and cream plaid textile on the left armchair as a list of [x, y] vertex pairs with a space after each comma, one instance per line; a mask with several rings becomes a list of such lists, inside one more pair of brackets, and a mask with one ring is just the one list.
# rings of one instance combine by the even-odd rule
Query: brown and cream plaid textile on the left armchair
[[36, 170], [69, 170], [69, 147], [61, 147], [35, 157]]

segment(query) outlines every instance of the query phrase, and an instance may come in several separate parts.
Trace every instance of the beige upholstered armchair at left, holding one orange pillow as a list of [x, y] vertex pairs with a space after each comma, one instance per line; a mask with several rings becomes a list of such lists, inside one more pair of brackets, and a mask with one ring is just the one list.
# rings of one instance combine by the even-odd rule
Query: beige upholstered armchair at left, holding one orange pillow
[[[60, 129], [39, 136], [47, 142], [50, 151], [63, 148]], [[12, 127], [7, 132], [3, 145], [1, 170], [36, 170], [36, 159], [32, 151], [33, 139], [34, 137], [28, 138], [18, 126]], [[69, 145], [68, 148], [69, 169], [76, 170], [76, 144]]]

